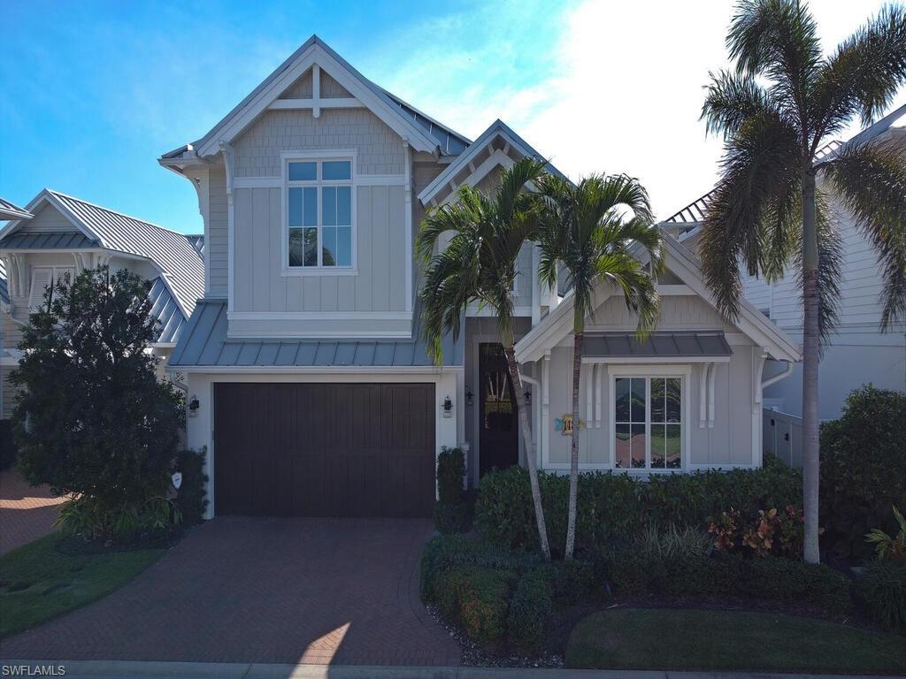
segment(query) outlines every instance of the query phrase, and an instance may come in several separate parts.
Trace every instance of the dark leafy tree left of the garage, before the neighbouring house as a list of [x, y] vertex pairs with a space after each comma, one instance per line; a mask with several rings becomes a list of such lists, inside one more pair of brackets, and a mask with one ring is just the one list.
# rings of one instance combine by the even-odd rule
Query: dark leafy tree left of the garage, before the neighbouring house
[[166, 527], [164, 494], [178, 445], [182, 397], [157, 379], [148, 349], [149, 283], [87, 270], [48, 287], [10, 373], [18, 464], [30, 483], [72, 495], [63, 528], [86, 538]]

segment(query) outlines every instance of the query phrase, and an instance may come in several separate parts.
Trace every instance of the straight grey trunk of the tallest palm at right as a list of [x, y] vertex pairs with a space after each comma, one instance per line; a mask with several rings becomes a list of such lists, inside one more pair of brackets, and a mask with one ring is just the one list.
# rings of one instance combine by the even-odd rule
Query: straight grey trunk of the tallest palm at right
[[803, 557], [818, 563], [818, 353], [820, 329], [818, 313], [818, 234], [815, 224], [814, 171], [802, 174], [802, 264], [803, 264], [803, 351], [802, 351], [802, 431], [803, 431], [803, 510], [805, 543]]

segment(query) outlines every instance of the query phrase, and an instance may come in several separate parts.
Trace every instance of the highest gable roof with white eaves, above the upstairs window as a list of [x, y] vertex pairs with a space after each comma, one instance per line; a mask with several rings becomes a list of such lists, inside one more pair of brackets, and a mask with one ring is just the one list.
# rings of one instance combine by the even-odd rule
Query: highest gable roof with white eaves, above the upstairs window
[[207, 134], [191, 144], [164, 154], [161, 159], [178, 158], [185, 151], [195, 151], [199, 157], [217, 153], [221, 141], [230, 142], [246, 129], [267, 106], [290, 85], [318, 64], [338, 81], [352, 96], [372, 113], [406, 139], [412, 148], [438, 154], [456, 154], [466, 148], [469, 140], [448, 129], [436, 120], [411, 107], [398, 97], [374, 84], [324, 43], [317, 35], [306, 40], [286, 61], [268, 75], [245, 99], [220, 120]]

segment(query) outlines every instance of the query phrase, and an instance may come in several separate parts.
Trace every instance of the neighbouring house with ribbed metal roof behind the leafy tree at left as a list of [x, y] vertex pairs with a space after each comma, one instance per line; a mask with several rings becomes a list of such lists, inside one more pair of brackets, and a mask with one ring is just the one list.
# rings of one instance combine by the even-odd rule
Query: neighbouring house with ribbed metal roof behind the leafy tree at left
[[27, 213], [0, 229], [0, 263], [6, 273], [5, 287], [0, 286], [5, 292], [0, 309], [0, 419], [8, 417], [13, 406], [6, 375], [18, 362], [22, 329], [53, 281], [101, 263], [148, 279], [151, 315], [159, 323], [152, 350], [162, 358], [161, 376], [204, 294], [204, 264], [187, 236], [47, 188], [28, 204]]

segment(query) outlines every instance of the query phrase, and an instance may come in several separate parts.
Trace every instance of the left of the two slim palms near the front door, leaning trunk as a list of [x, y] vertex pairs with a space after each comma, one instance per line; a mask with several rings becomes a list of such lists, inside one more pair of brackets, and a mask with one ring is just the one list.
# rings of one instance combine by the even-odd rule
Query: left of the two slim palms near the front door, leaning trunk
[[[439, 206], [425, 216], [416, 240], [417, 250], [427, 264], [419, 292], [422, 325], [435, 360], [439, 362], [441, 358], [442, 336], [452, 333], [454, 338], [458, 337], [467, 304], [487, 305], [496, 311], [500, 343], [516, 394], [523, 392], [513, 334], [516, 256], [525, 241], [537, 234], [537, 198], [525, 189], [544, 175], [545, 166], [545, 162], [532, 158], [516, 162], [501, 173], [493, 196], [485, 196], [471, 186], [460, 186], [456, 202]], [[450, 241], [435, 254], [444, 234], [451, 236]], [[545, 559], [550, 559], [537, 465], [532, 454], [532, 430], [518, 398], [516, 410], [525, 442], [538, 540]]]

